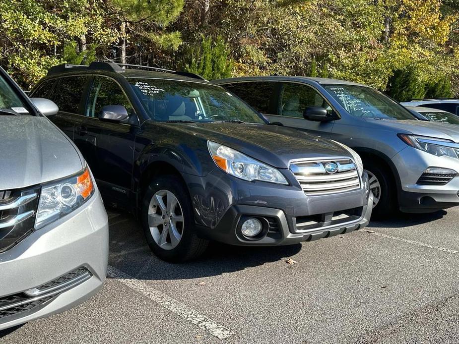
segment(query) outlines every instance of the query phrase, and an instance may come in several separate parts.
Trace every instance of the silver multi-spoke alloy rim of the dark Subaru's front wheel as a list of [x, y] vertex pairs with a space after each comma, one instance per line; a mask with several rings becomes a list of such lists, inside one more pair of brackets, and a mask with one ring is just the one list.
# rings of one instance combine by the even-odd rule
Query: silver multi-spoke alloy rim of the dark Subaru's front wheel
[[184, 221], [182, 206], [168, 190], [159, 190], [148, 206], [148, 226], [151, 236], [165, 250], [175, 248], [182, 238]]

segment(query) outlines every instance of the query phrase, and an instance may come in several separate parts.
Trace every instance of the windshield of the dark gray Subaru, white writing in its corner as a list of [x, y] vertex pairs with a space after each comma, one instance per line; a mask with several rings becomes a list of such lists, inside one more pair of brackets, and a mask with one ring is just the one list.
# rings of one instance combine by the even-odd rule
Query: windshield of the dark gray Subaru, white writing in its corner
[[128, 80], [148, 115], [157, 121], [265, 123], [258, 113], [221, 87], [163, 79]]

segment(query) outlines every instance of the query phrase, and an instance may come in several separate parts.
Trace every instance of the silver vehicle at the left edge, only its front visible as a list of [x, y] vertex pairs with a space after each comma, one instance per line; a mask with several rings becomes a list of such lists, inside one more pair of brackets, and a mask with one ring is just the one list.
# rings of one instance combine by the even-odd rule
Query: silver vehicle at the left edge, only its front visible
[[0, 330], [83, 302], [107, 270], [108, 219], [92, 174], [44, 116], [58, 107], [32, 102], [0, 68]]

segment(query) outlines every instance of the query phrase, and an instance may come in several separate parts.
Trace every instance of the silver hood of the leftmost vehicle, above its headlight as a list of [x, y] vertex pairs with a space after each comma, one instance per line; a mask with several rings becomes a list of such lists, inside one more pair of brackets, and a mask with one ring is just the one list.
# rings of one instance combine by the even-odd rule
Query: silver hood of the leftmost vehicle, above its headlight
[[24, 188], [81, 171], [69, 139], [48, 118], [0, 115], [0, 190]]

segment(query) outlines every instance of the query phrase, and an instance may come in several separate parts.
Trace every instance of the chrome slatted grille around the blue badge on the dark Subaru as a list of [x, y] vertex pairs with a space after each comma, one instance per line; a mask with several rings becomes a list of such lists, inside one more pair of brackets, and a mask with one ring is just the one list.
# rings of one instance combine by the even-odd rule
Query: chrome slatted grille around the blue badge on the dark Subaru
[[[337, 167], [327, 172], [326, 166]], [[360, 188], [357, 169], [350, 159], [305, 160], [290, 165], [307, 195], [323, 195], [356, 190]]]

